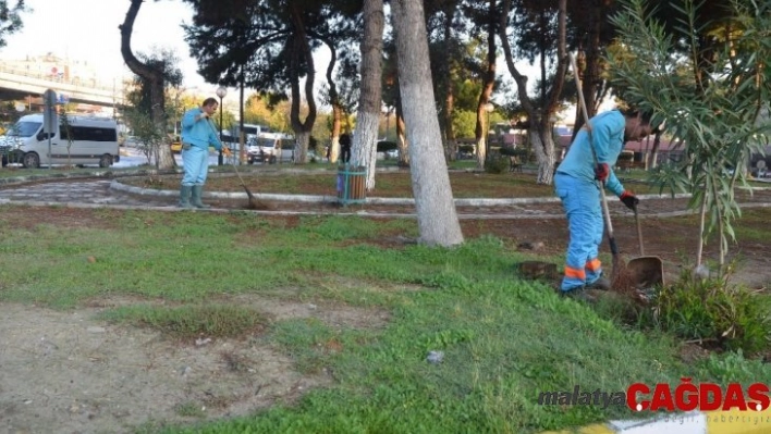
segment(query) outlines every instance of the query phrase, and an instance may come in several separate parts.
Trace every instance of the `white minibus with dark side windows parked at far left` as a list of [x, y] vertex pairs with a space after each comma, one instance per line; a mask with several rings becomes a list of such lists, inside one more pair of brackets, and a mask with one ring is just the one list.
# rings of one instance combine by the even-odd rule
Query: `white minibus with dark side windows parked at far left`
[[29, 169], [51, 164], [109, 168], [120, 161], [118, 123], [113, 119], [76, 114], [66, 119], [68, 125], [57, 122], [59, 129], [51, 136], [49, 158], [42, 113], [22, 116], [0, 137], [2, 164], [19, 162]]

